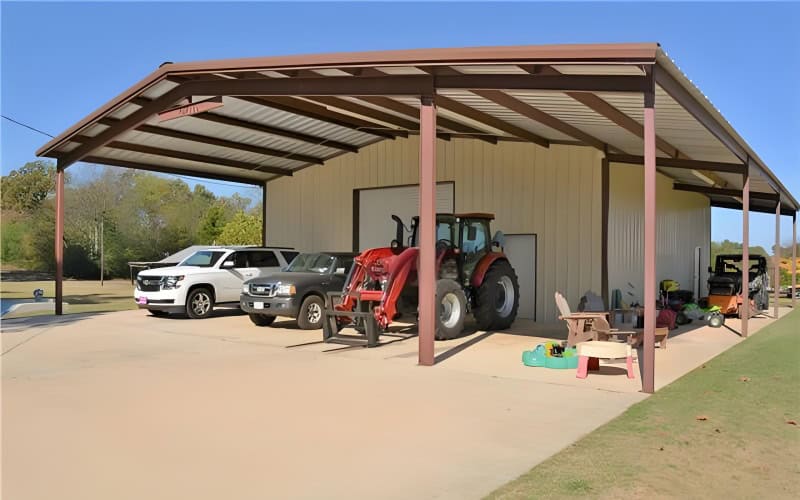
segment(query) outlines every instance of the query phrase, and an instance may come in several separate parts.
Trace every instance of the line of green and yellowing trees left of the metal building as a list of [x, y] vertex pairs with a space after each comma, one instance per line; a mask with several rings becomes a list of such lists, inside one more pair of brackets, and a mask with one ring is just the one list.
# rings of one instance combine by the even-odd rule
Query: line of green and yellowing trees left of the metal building
[[[93, 168], [84, 181], [65, 172], [65, 276], [97, 279], [101, 240], [107, 278], [128, 276], [128, 262], [160, 260], [190, 245], [261, 243], [262, 207], [250, 198], [216, 196], [149, 172]], [[2, 177], [4, 265], [55, 270], [55, 172], [40, 160]]]

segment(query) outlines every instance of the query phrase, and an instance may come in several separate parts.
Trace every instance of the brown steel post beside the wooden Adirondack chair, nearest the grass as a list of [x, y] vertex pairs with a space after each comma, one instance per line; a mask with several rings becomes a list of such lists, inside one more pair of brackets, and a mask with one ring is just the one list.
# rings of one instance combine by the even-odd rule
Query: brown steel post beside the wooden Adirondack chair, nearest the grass
[[[652, 73], [650, 73], [652, 77]], [[651, 79], [652, 82], [652, 79]], [[644, 367], [642, 391], [655, 392], [656, 114], [655, 90], [644, 94]]]

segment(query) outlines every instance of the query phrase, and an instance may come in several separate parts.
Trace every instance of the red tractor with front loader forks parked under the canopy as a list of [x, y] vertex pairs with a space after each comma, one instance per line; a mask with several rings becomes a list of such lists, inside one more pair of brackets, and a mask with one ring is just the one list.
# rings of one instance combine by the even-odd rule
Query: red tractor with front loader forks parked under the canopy
[[[411, 222], [408, 246], [403, 242], [403, 221], [396, 215], [392, 219], [397, 236], [391, 246], [365, 250], [355, 258], [343, 291], [329, 294], [328, 304], [334, 304], [337, 296], [341, 302], [325, 311], [326, 342], [372, 347], [392, 321], [416, 321], [419, 218]], [[491, 214], [436, 216], [437, 340], [460, 335], [470, 312], [481, 330], [503, 330], [517, 316], [517, 275], [502, 251], [501, 233], [490, 239], [492, 219]], [[347, 326], [362, 339], [341, 335]]]

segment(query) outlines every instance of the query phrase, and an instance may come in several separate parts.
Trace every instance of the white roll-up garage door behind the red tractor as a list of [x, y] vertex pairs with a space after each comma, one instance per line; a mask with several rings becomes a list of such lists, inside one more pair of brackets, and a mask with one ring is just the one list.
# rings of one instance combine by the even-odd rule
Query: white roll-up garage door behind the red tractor
[[[436, 211], [453, 213], [455, 184], [436, 185]], [[419, 186], [362, 189], [358, 194], [358, 248], [386, 247], [395, 238], [392, 214], [411, 226], [411, 218], [419, 214]], [[407, 239], [410, 233], [405, 233]]]

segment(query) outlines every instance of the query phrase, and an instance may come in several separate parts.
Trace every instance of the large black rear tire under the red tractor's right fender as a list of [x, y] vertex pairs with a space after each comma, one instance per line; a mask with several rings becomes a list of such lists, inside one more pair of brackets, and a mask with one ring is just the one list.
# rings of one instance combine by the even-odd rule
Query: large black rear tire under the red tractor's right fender
[[486, 272], [476, 302], [473, 315], [481, 330], [505, 330], [517, 318], [519, 281], [507, 260], [495, 262]]

